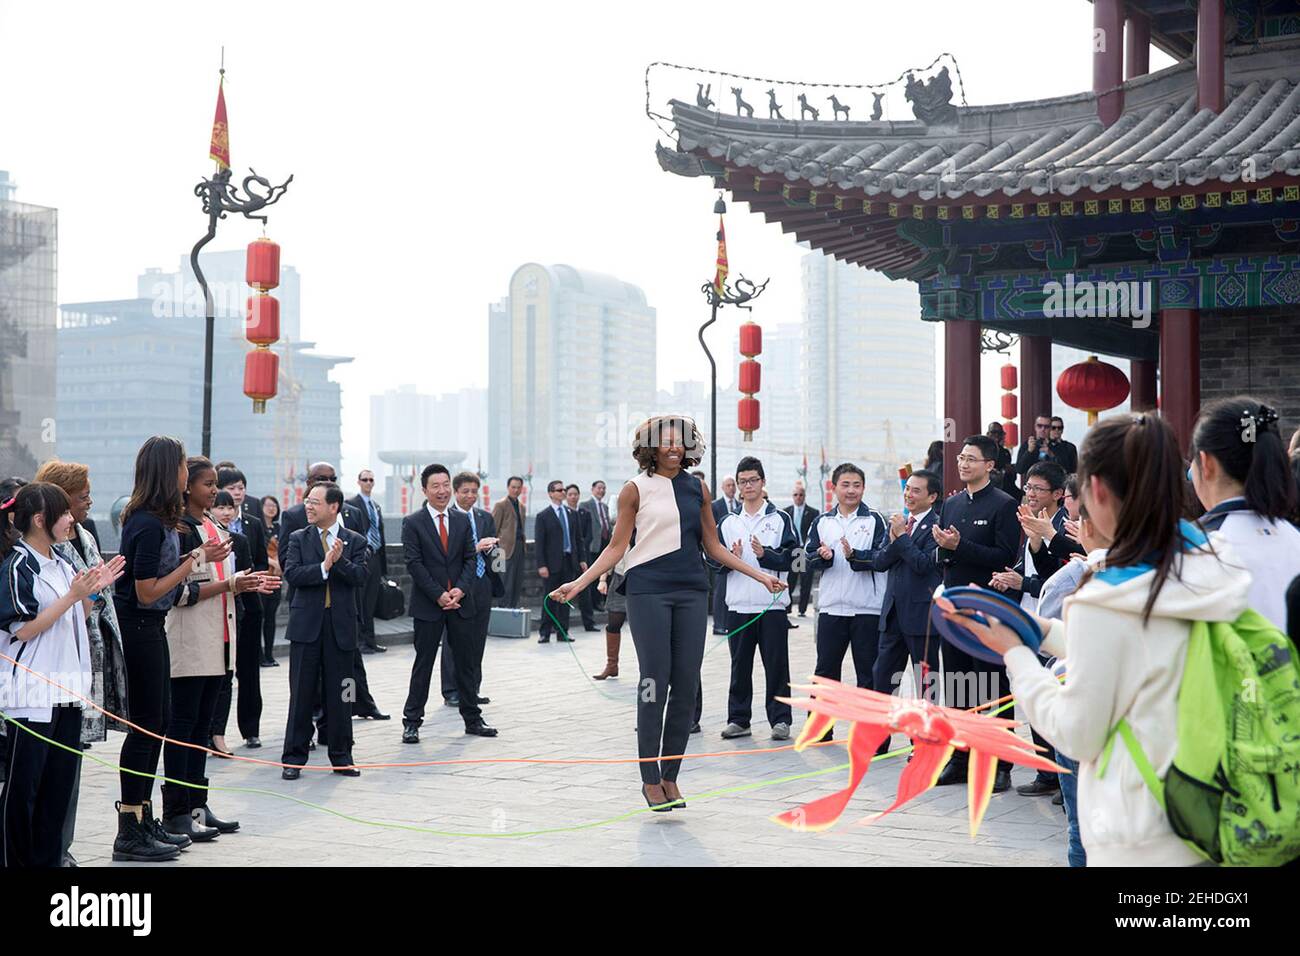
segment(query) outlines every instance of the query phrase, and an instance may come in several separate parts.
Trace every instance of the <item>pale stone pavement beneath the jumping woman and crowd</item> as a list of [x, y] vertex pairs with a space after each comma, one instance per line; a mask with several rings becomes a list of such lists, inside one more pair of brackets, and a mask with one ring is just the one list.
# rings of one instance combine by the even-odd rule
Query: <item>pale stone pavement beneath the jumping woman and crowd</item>
[[[575, 623], [581, 627], [575, 614]], [[790, 631], [792, 672], [812, 671], [812, 618]], [[395, 623], [395, 622], [394, 622]], [[381, 639], [382, 640], [382, 639]], [[690, 737], [690, 752], [742, 752], [771, 747], [762, 714], [762, 665], [755, 659], [754, 736], [722, 740], [725, 723], [728, 654], [708, 636], [703, 688], [705, 732]], [[724, 640], [724, 639], [723, 639]], [[572, 652], [571, 652], [572, 649]], [[578, 659], [575, 659], [575, 654]], [[489, 637], [482, 692], [497, 739], [469, 737], [460, 715], [442, 706], [437, 675], [430, 711], [419, 745], [400, 743], [402, 704], [413, 659], [410, 644], [365, 658], [370, 687], [391, 721], [355, 721], [355, 760], [402, 762], [485, 757], [623, 758], [636, 756], [636, 656], [624, 633], [623, 675], [598, 684], [584, 675], [601, 669], [603, 633], [578, 632], [572, 645], [538, 645], [536, 637]], [[578, 661], [581, 663], [578, 663]], [[289, 667], [264, 669], [265, 701], [260, 750], [237, 754], [278, 760], [287, 711]], [[846, 662], [852, 676], [852, 661]], [[237, 691], [238, 692], [238, 691]], [[796, 730], [802, 717], [796, 711]], [[228, 741], [239, 741], [230, 719]], [[842, 735], [841, 735], [842, 736]], [[95, 744], [88, 757], [117, 762], [121, 735]], [[904, 745], [902, 737], [894, 739]], [[312, 752], [316, 766], [328, 763]], [[209, 758], [213, 787], [269, 793], [213, 792], [211, 805], [242, 830], [195, 845], [168, 866], [384, 866], [384, 865], [1065, 865], [1065, 817], [1045, 797], [1014, 791], [993, 797], [980, 834], [971, 840], [966, 788], [932, 790], [870, 827], [854, 822], [893, 800], [902, 761], [878, 762], [849, 805], [844, 821], [827, 832], [793, 832], [768, 817], [844, 786], [846, 771], [823, 774], [728, 793], [715, 790], [776, 780], [845, 761], [842, 747], [796, 754], [708, 757], [689, 761], [680, 784], [685, 809], [649, 813], [633, 763], [556, 766], [482, 763], [365, 770], [350, 779], [304, 771], [280, 779], [277, 767]], [[1013, 771], [1015, 783], [1032, 770]], [[329, 808], [321, 812], [274, 795]], [[83, 866], [110, 864], [117, 774], [87, 760], [73, 852]], [[155, 799], [157, 799], [155, 793]], [[637, 812], [640, 810], [640, 812]], [[627, 816], [630, 814], [630, 816]], [[351, 819], [350, 819], [351, 817]], [[372, 826], [399, 823], [442, 834]], [[603, 821], [603, 822], [602, 822]], [[590, 826], [597, 823], [597, 826]], [[572, 830], [562, 830], [572, 827]], [[530, 831], [534, 835], [514, 836]], [[153, 864], [151, 866], [162, 866]]]

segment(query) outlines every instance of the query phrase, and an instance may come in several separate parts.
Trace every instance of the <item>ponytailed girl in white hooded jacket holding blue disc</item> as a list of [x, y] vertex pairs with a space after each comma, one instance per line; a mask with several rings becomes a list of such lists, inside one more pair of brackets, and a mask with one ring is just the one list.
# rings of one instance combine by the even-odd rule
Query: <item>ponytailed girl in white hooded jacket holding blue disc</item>
[[1121, 718], [1164, 777], [1178, 748], [1178, 688], [1193, 620], [1234, 620], [1251, 575], [1231, 545], [1180, 520], [1184, 468], [1173, 429], [1154, 415], [1095, 425], [1079, 454], [1079, 489], [1105, 567], [1065, 602], [1063, 622], [1040, 619], [1046, 654], [1063, 657], [1062, 685], [1006, 627], [950, 614], [1004, 653], [1023, 717], [1079, 761], [1079, 829], [1092, 866], [1191, 866], [1124, 747], [1097, 765]]

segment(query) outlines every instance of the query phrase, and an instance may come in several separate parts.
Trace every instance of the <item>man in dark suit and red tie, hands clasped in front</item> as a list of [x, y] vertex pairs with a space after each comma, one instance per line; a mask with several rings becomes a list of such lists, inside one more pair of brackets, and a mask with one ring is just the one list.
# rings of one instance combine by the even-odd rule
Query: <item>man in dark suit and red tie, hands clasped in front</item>
[[402, 519], [402, 549], [411, 572], [415, 618], [415, 665], [402, 709], [402, 743], [420, 743], [424, 705], [443, 633], [456, 659], [454, 670], [465, 734], [494, 737], [497, 728], [484, 722], [478, 709], [482, 645], [474, 637], [474, 532], [464, 512], [450, 507], [451, 473], [446, 466], [425, 466], [420, 483], [425, 506]]

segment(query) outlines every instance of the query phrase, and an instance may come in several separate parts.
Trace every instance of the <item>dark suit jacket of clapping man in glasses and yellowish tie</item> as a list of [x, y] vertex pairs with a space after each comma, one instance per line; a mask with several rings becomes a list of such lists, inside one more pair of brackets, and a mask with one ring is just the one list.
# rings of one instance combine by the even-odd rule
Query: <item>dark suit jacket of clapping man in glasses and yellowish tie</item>
[[325, 548], [320, 533], [308, 527], [289, 536], [281, 561], [285, 581], [294, 589], [289, 601], [289, 632], [285, 635], [290, 641], [313, 644], [320, 640], [325, 615], [329, 614], [338, 649], [356, 650], [358, 610], [369, 550], [364, 537], [343, 528], [343, 553], [329, 570], [330, 606], [326, 610], [325, 578], [321, 575]]

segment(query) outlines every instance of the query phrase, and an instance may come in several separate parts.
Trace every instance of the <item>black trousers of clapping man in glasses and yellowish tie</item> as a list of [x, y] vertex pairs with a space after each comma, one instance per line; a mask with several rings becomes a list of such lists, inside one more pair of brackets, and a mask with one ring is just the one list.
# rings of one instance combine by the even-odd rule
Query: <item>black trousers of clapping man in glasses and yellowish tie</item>
[[354, 679], [356, 649], [343, 650], [334, 640], [334, 622], [325, 615], [315, 641], [292, 641], [289, 649], [289, 721], [285, 724], [285, 753], [281, 763], [304, 766], [312, 740], [312, 709], [320, 692], [325, 715], [325, 741], [329, 762], [337, 767], [352, 763], [352, 704], [347, 684]]

